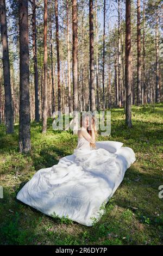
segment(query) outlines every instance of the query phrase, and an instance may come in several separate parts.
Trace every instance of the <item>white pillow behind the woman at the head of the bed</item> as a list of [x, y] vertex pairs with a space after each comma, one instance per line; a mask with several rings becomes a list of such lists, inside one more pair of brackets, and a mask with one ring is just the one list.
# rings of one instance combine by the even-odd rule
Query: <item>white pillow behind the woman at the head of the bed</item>
[[117, 141], [98, 141], [96, 142], [96, 149], [102, 148], [108, 150], [110, 153], [116, 153], [122, 147], [122, 142]]

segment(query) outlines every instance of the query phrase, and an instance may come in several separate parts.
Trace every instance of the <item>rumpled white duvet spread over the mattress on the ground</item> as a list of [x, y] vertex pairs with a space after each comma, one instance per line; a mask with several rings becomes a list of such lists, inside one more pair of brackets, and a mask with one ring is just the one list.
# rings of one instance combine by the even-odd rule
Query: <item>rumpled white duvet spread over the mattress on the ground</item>
[[17, 199], [43, 214], [91, 226], [104, 214], [102, 206], [135, 160], [134, 151], [128, 147], [115, 154], [102, 148], [76, 149], [58, 164], [38, 170], [18, 192]]

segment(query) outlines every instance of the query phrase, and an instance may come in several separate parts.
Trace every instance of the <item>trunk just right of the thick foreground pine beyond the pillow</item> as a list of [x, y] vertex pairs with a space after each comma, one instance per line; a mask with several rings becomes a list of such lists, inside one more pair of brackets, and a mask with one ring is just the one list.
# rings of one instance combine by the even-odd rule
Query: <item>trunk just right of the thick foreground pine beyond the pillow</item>
[[137, 106], [141, 105], [140, 0], [137, 0]]

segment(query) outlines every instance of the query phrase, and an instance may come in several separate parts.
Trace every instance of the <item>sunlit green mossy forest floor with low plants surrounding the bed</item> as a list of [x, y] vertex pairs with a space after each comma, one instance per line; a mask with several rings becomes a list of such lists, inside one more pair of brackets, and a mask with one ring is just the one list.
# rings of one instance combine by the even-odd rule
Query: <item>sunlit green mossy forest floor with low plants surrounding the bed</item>
[[[54, 131], [52, 119], [42, 134], [40, 123], [32, 123], [31, 154], [18, 153], [18, 125], [5, 135], [0, 125], [0, 244], [3, 245], [160, 245], [163, 244], [163, 104], [132, 107], [133, 127], [124, 125], [123, 109], [111, 109], [111, 136], [99, 140], [123, 142], [136, 154], [121, 185], [106, 204], [106, 213], [92, 227], [66, 218], [43, 215], [16, 199], [21, 186], [34, 173], [73, 154], [77, 136]], [[24, 182], [24, 183], [22, 183]]]

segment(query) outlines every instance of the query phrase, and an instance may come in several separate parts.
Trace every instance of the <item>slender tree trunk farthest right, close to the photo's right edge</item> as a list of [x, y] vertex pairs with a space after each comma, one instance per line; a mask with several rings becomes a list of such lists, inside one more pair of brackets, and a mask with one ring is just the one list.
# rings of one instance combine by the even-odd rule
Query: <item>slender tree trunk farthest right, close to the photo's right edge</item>
[[159, 43], [158, 43], [158, 10], [156, 13], [155, 26], [155, 101], [160, 102], [160, 88], [159, 88]]

